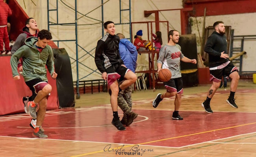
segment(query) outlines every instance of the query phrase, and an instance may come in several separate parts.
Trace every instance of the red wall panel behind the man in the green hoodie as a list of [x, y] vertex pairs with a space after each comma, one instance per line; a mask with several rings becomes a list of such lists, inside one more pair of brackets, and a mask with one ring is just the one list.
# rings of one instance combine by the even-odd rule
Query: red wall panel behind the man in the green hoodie
[[[32, 95], [22, 76], [20, 76], [20, 80], [13, 79], [10, 58], [11, 56], [0, 56], [0, 115], [24, 113], [21, 99], [24, 96]], [[46, 109], [58, 109], [56, 80], [51, 78], [48, 71], [47, 78], [48, 83], [52, 86], [52, 92]]]

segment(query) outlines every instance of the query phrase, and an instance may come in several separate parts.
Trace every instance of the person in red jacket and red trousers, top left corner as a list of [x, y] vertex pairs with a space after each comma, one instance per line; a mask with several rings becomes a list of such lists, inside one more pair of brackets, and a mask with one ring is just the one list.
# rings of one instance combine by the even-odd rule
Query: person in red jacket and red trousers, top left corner
[[[5, 0], [0, 2], [0, 54], [11, 54], [9, 46], [9, 37], [7, 32], [7, 18], [12, 14], [9, 5], [5, 3]], [[5, 51], [4, 51], [5, 47]]]

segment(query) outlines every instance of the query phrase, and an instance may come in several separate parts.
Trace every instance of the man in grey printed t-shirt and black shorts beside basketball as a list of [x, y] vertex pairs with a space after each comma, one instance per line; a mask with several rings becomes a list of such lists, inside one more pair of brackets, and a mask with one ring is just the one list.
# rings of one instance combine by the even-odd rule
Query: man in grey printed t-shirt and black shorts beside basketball
[[177, 44], [180, 38], [179, 32], [171, 30], [168, 33], [169, 42], [163, 46], [159, 53], [157, 61], [158, 72], [161, 69], [169, 69], [172, 73], [172, 77], [169, 81], [163, 82], [167, 91], [162, 95], [158, 94], [153, 100], [153, 107], [156, 108], [163, 98], [173, 97], [174, 100], [174, 112], [172, 119], [183, 120], [179, 115], [179, 109], [181, 104], [181, 95], [183, 93], [183, 82], [180, 72], [180, 60], [187, 63], [197, 64], [196, 59], [189, 59], [185, 57], [181, 52], [181, 47]]

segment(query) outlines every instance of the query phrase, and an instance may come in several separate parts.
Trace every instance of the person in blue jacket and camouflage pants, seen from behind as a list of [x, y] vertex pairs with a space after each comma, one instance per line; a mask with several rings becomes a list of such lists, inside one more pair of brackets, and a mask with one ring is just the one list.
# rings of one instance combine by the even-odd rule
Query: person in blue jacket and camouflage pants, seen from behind
[[[126, 68], [130, 69], [135, 73], [135, 69], [137, 67], [137, 56], [138, 52], [136, 50], [136, 46], [132, 44], [129, 40], [127, 40], [124, 35], [121, 33], [117, 34], [120, 38], [119, 42], [119, 54], [121, 59], [124, 62]], [[120, 83], [119, 83], [120, 84]], [[117, 104], [124, 112], [124, 116], [122, 117], [121, 123], [129, 126], [132, 124], [133, 120], [137, 118], [138, 114], [132, 111], [132, 89], [133, 84], [124, 89], [118, 94]]]

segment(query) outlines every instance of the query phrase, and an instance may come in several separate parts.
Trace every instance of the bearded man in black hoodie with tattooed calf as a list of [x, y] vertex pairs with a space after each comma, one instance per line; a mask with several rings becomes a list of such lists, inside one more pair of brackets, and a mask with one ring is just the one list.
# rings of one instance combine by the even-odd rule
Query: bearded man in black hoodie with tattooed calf
[[230, 95], [226, 102], [233, 108], [238, 108], [234, 95], [238, 86], [239, 74], [236, 66], [228, 58], [224, 22], [217, 21], [213, 24], [213, 27], [215, 31], [208, 38], [204, 47], [204, 51], [209, 54], [210, 81], [212, 81], [207, 98], [202, 103], [202, 107], [207, 113], [213, 113], [210, 107], [210, 101], [221, 84], [222, 76], [232, 79]]

